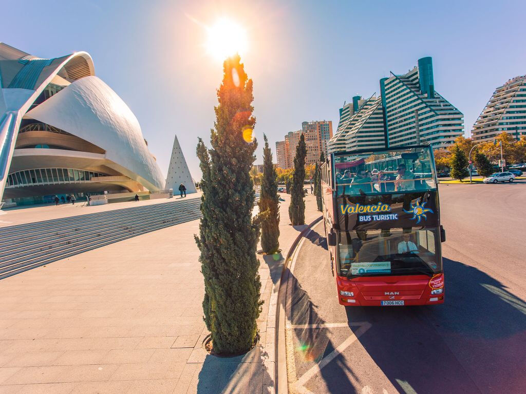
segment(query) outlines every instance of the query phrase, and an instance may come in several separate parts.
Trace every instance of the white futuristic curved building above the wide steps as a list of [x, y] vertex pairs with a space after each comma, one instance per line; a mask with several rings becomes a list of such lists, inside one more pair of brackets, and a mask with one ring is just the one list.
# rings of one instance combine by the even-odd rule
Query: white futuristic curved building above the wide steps
[[137, 118], [86, 52], [42, 59], [0, 43], [0, 200], [163, 189]]

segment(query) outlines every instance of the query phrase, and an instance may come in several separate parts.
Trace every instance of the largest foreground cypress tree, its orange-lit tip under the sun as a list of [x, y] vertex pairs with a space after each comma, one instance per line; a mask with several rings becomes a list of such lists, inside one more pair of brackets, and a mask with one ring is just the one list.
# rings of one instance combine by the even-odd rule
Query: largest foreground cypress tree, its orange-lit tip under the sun
[[252, 80], [238, 55], [225, 60], [222, 84], [217, 91], [212, 149], [199, 139], [197, 156], [203, 181], [203, 219], [196, 238], [205, 279], [203, 311], [214, 351], [246, 352], [256, 336], [259, 300], [257, 222], [252, 220], [254, 184], [250, 168], [257, 143], [252, 140]]

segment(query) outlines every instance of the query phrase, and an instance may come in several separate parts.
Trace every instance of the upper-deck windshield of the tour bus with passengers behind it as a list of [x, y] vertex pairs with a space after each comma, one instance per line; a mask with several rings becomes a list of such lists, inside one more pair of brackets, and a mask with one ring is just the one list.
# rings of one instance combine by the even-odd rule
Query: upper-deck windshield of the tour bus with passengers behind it
[[436, 190], [428, 147], [335, 155], [338, 196]]

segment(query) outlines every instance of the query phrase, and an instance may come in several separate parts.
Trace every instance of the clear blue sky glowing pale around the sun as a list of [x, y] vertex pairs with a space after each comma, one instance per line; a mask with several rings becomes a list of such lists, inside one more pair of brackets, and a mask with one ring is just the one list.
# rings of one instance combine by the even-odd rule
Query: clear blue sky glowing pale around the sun
[[[0, 39], [40, 57], [92, 55], [124, 99], [164, 174], [174, 134], [200, 178], [197, 137], [209, 141], [221, 64], [204, 26], [229, 17], [248, 32], [256, 137], [275, 142], [302, 121], [332, 120], [356, 94], [431, 56], [435, 89], [471, 130], [495, 87], [526, 74], [523, 1], [8, 1]], [[261, 144], [256, 163], [262, 162]]]

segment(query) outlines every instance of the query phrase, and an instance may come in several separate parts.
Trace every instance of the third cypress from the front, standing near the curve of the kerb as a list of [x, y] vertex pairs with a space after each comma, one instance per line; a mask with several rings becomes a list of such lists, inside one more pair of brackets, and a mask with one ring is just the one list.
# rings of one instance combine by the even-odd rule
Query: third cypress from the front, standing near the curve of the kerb
[[305, 136], [301, 134], [296, 147], [294, 158], [294, 175], [290, 185], [289, 217], [293, 226], [305, 224], [305, 158], [307, 157], [307, 146]]

